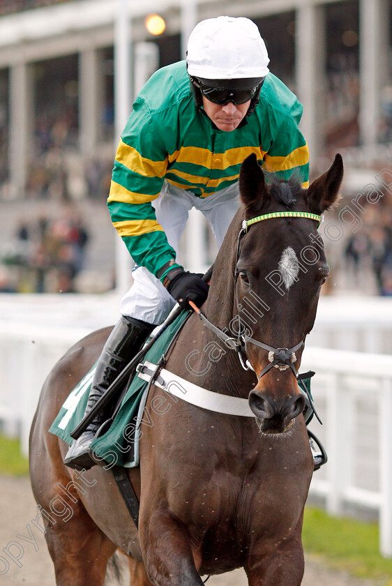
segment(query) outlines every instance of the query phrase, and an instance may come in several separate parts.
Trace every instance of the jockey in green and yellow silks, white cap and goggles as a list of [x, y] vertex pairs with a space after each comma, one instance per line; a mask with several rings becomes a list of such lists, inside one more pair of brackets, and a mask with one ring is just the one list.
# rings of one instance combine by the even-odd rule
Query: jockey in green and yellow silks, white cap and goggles
[[[178, 301], [202, 306], [209, 286], [176, 262], [179, 240], [195, 207], [218, 246], [239, 207], [239, 170], [250, 153], [308, 187], [309, 151], [299, 131], [302, 105], [269, 72], [256, 24], [220, 16], [199, 22], [186, 61], [152, 75], [135, 100], [116, 151], [108, 206], [135, 260], [121, 318], [98, 360], [86, 412], [96, 404], [149, 333]], [[89, 446], [105, 415], [74, 440], [70, 467], [88, 469]]]

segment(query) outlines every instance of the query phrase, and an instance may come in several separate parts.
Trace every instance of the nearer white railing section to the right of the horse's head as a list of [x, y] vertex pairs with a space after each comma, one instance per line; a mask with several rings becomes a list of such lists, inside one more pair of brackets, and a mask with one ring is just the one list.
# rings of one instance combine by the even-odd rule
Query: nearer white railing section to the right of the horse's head
[[380, 550], [392, 557], [392, 356], [309, 347], [301, 372], [315, 370], [312, 395], [324, 425], [310, 429], [329, 461], [310, 495], [339, 515], [351, 504], [379, 512]]

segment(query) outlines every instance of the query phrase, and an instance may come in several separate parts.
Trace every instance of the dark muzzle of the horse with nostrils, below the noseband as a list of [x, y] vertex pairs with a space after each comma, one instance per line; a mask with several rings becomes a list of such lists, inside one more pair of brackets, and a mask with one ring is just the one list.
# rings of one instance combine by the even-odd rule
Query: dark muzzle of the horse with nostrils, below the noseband
[[271, 435], [286, 433], [291, 428], [293, 419], [301, 414], [305, 407], [305, 398], [294, 391], [276, 396], [266, 390], [253, 389], [248, 400], [259, 430]]

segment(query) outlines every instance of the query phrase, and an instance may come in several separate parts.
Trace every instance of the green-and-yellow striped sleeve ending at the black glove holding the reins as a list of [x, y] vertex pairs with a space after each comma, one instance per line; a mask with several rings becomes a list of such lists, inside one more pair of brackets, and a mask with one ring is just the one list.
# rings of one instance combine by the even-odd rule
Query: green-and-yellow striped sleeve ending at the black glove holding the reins
[[133, 260], [155, 276], [176, 259], [151, 204], [160, 195], [166, 170], [165, 141], [153, 117], [136, 102], [116, 151], [107, 205]]

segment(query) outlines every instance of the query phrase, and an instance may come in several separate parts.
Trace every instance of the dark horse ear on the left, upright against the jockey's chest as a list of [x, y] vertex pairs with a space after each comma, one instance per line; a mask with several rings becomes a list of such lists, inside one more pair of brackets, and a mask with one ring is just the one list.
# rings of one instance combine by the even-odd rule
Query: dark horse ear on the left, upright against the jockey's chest
[[241, 201], [250, 213], [259, 210], [266, 200], [266, 183], [262, 168], [257, 163], [255, 153], [247, 156], [239, 172], [239, 193]]

